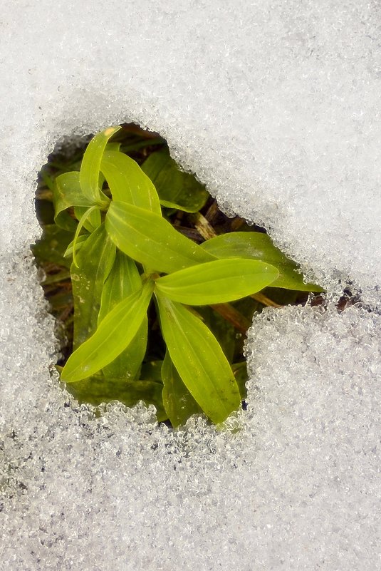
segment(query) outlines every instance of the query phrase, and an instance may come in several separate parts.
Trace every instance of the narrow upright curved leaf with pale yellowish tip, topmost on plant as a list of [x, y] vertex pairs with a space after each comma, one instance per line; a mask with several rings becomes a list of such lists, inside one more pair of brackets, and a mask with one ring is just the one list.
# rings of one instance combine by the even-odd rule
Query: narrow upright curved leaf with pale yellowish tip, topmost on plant
[[105, 196], [101, 194], [99, 188], [99, 173], [102, 155], [108, 140], [120, 130], [120, 127], [108, 127], [101, 131], [90, 140], [88, 147], [83, 155], [82, 164], [80, 165], [80, 188], [83, 195], [90, 200], [96, 202], [100, 206], [103, 205]]

